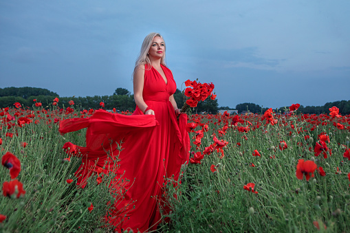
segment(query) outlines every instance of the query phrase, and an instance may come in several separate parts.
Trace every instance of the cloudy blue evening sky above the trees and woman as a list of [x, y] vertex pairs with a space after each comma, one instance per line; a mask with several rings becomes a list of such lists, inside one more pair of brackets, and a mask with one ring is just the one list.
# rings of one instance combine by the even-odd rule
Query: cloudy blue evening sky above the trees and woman
[[0, 87], [59, 96], [133, 92], [159, 32], [177, 88], [212, 82], [219, 106], [350, 100], [350, 1], [0, 1]]

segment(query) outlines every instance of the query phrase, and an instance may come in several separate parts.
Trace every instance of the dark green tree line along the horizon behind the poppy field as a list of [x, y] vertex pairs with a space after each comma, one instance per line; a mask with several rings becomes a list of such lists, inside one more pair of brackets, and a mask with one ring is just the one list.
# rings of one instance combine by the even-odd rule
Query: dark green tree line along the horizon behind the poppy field
[[[133, 99], [133, 94], [127, 89], [118, 87], [111, 96], [86, 96], [86, 97], [59, 97], [57, 93], [52, 92], [48, 89], [37, 88], [37, 87], [6, 87], [0, 88], [0, 108], [14, 107], [15, 102], [19, 102], [23, 107], [32, 108], [34, 102], [42, 102], [43, 106], [50, 106], [54, 98], [58, 97], [59, 107], [68, 107], [69, 101], [73, 100], [75, 106], [81, 109], [99, 109], [100, 102], [105, 104], [105, 109], [116, 108], [119, 111], [133, 111], [135, 110], [136, 104]], [[181, 108], [184, 105], [185, 99], [184, 94], [179, 89], [176, 89], [174, 93], [177, 107]], [[46, 105], [45, 105], [46, 104]], [[350, 114], [350, 100], [341, 100], [335, 102], [327, 102], [323, 106], [306, 106], [300, 105], [299, 113], [309, 114], [320, 114], [329, 113], [329, 108], [338, 107], [339, 113], [342, 115]], [[219, 107], [217, 99], [211, 100], [207, 98], [203, 102], [199, 102], [197, 107], [193, 109], [193, 113], [217, 113], [219, 109], [232, 109], [230, 107]], [[237, 104], [236, 108], [239, 113], [243, 111], [250, 111], [252, 113], [264, 113], [268, 108], [260, 107], [259, 104], [245, 102]], [[289, 111], [288, 107], [280, 107], [276, 111]]]

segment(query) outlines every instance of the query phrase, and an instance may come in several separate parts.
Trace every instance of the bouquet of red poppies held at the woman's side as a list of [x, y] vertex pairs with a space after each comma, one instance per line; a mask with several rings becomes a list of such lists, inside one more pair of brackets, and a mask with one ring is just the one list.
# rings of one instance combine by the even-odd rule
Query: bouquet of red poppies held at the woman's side
[[212, 90], [214, 89], [212, 82], [210, 82], [210, 84], [201, 84], [201, 82], [197, 82], [197, 80], [187, 80], [185, 85], [187, 87], [185, 89], [186, 102], [181, 109], [182, 113], [186, 113], [190, 107], [197, 107], [199, 101], [204, 101], [209, 96], [212, 100], [215, 100], [217, 97], [217, 95], [212, 93]]

